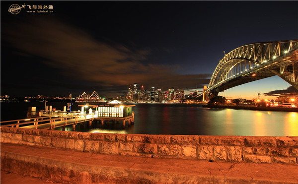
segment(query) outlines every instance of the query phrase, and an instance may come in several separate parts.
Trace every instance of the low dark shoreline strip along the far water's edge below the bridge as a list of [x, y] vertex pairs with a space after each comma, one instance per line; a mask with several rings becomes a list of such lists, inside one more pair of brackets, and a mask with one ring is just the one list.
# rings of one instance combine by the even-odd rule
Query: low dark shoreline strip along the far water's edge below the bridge
[[293, 107], [253, 107], [253, 106], [229, 106], [229, 105], [203, 105], [204, 108], [222, 108], [222, 109], [244, 109], [254, 111], [282, 111], [298, 112], [298, 108]]

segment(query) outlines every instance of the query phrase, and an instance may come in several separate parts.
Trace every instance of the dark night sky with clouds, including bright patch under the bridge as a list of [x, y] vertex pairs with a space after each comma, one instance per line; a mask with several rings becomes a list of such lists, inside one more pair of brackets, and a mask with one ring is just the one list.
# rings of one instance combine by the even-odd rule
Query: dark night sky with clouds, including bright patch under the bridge
[[[209, 84], [224, 51], [298, 39], [298, 1], [0, 3], [1, 96], [116, 97], [134, 83], [187, 94]], [[11, 4], [26, 6], [12, 14]], [[53, 12], [27, 12], [27, 5], [53, 5]], [[220, 95], [251, 99], [289, 86], [274, 76]]]

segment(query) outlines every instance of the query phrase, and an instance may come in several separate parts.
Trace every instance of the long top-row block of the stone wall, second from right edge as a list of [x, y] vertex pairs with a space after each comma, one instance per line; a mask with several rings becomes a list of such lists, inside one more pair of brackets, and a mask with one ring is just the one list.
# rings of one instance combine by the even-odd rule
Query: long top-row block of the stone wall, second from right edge
[[245, 137], [245, 146], [276, 146], [275, 137]]

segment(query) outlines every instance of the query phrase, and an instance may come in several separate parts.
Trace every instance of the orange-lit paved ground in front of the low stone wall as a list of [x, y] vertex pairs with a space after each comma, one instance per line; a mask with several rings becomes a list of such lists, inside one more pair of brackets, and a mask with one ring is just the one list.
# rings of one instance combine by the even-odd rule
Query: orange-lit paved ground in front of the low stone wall
[[[6, 162], [9, 159], [18, 159], [28, 163], [40, 162], [40, 164], [47, 165], [48, 168], [57, 167], [66, 171], [75, 170], [78, 173], [85, 173], [81, 177], [86, 177], [86, 183], [95, 181], [94, 176], [88, 178], [89, 175], [86, 172], [95, 173], [96, 176], [105, 175], [105, 178], [101, 179], [105, 181], [104, 183], [121, 183], [121, 181], [123, 183], [134, 183], [135, 181], [138, 181], [138, 183], [143, 183], [142, 181], [146, 181], [146, 183], [185, 183], [185, 181], [188, 183], [197, 183], [199, 181], [217, 181], [217, 183], [298, 183], [298, 165], [292, 164], [229, 163], [102, 155], [1, 143], [1, 184], [44, 184], [51, 182], [46, 178], [40, 180], [22, 176], [30, 173], [29, 171], [23, 171], [25, 174], [21, 175], [4, 172], [4, 170], [8, 171], [8, 167], [13, 170], [14, 165], [5, 163], [2, 158], [5, 158]], [[31, 165], [28, 165], [28, 170], [30, 170], [30, 167]], [[40, 169], [41, 173], [42, 170], [43, 168]], [[16, 169], [16, 172], [21, 171], [19, 168]], [[34, 173], [34, 168], [32, 171]], [[66, 178], [60, 176], [61, 179], [70, 183], [80, 183], [74, 181], [82, 180], [81, 178], [74, 180], [71, 177], [75, 176], [70, 175]], [[57, 181], [57, 177], [55, 180], [56, 182], [64, 182]]]

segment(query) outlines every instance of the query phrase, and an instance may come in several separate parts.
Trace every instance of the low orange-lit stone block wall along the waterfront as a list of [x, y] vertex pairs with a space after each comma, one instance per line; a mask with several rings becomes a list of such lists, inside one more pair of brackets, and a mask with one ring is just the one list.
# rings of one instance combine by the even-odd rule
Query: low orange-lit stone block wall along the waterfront
[[298, 137], [87, 133], [1, 128], [1, 142], [101, 154], [298, 164]]

